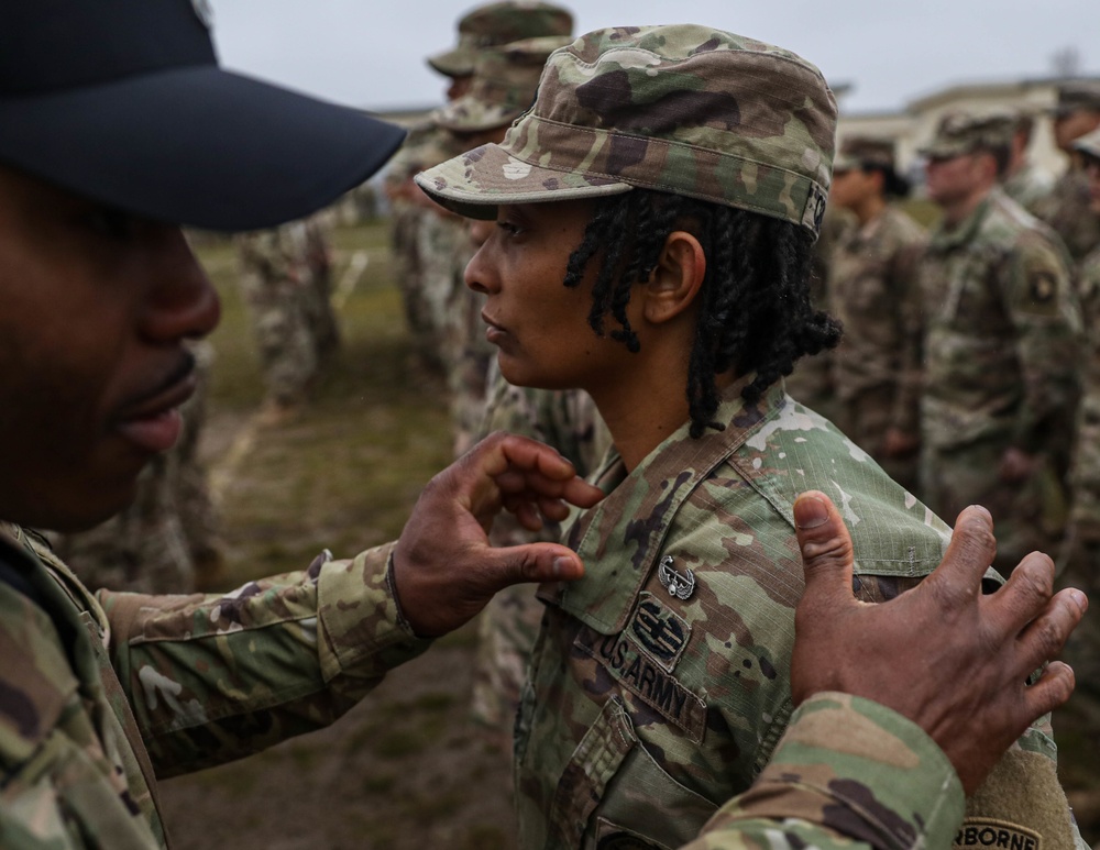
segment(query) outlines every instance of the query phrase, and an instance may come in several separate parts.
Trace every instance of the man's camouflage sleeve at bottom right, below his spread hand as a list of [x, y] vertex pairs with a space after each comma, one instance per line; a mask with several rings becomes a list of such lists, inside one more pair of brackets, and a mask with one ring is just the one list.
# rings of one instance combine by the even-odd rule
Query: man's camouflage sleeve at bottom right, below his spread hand
[[685, 850], [950, 847], [963, 786], [915, 724], [845, 694], [795, 711], [771, 762]]

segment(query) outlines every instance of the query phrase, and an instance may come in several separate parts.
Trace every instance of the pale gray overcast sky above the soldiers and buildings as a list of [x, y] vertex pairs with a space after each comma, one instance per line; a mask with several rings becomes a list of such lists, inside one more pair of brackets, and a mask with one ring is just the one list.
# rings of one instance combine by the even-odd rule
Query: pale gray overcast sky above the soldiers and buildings
[[[1100, 0], [559, 0], [576, 33], [700, 23], [792, 49], [849, 112], [898, 109], [944, 86], [1052, 76], [1077, 51], [1100, 75]], [[479, 0], [211, 0], [222, 63], [366, 109], [429, 107], [446, 82], [424, 62]], [[384, 10], [384, 11], [383, 11]]]

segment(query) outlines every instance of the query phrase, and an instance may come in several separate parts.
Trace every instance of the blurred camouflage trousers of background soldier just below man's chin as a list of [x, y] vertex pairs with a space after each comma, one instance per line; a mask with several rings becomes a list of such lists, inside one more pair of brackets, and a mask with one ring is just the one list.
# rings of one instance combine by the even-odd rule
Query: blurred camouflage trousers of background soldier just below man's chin
[[198, 384], [179, 408], [180, 438], [142, 470], [134, 500], [94, 529], [51, 534], [54, 550], [88, 587], [190, 593], [197, 566], [218, 567], [217, 517], [198, 460], [213, 349], [206, 341], [191, 349]]

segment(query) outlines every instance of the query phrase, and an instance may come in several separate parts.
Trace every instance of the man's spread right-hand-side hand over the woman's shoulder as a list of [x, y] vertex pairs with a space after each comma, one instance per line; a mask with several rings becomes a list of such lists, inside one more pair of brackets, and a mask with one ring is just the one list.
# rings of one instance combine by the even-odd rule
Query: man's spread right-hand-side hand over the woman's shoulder
[[959, 514], [943, 563], [881, 605], [853, 596], [851, 538], [827, 496], [802, 494], [794, 519], [806, 576], [795, 614], [795, 704], [840, 691], [905, 715], [939, 744], [970, 794], [1036, 718], [1069, 698], [1074, 672], [1053, 659], [1088, 599], [1076, 589], [1054, 594], [1054, 563], [1038, 552], [983, 595], [997, 551], [985, 508]]

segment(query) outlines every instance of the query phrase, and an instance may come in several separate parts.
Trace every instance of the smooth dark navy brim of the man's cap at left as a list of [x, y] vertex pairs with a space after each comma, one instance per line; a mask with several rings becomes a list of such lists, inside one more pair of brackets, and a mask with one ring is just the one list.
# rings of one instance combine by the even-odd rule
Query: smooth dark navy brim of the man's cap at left
[[374, 174], [400, 128], [216, 66], [0, 98], [0, 162], [148, 218], [255, 230]]

